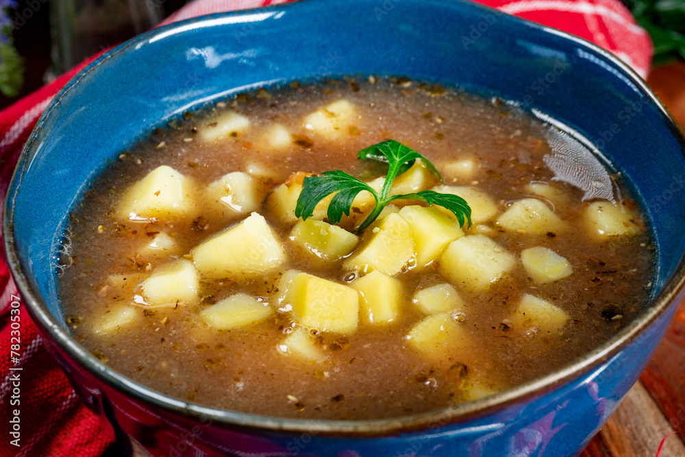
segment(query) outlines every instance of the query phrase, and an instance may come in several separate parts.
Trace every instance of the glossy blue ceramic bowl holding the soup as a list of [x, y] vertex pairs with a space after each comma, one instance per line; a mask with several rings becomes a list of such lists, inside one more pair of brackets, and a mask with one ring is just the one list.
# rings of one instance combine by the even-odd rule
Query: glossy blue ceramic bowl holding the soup
[[[105, 159], [232, 92], [357, 73], [409, 75], [520, 101], [601, 146], [647, 203], [656, 232], [656, 292], [640, 318], [534, 382], [471, 404], [373, 421], [278, 419], [183, 402], [112, 371], [70, 336], [55, 288], [55, 234]], [[19, 160], [5, 203], [5, 247], [49, 350], [129, 451], [573, 456], [636, 381], [682, 298], [683, 151], [679, 130], [645, 83], [587, 42], [460, 1], [310, 0], [155, 29], [75, 76]]]

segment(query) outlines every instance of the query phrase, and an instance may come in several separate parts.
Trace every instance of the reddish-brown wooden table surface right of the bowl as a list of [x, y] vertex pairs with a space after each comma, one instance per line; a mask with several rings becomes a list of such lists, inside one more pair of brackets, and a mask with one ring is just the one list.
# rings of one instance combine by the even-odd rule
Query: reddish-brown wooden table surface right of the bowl
[[[647, 82], [685, 128], [685, 64], [655, 69]], [[581, 457], [655, 457], [667, 434], [660, 457], [685, 457], [685, 301], [640, 380]]]

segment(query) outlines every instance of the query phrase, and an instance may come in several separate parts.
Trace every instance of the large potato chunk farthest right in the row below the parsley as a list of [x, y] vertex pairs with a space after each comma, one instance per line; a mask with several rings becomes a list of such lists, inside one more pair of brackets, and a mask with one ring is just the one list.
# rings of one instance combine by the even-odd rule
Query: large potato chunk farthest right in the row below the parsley
[[514, 267], [505, 247], [485, 235], [462, 236], [440, 256], [440, 274], [456, 286], [483, 291]]

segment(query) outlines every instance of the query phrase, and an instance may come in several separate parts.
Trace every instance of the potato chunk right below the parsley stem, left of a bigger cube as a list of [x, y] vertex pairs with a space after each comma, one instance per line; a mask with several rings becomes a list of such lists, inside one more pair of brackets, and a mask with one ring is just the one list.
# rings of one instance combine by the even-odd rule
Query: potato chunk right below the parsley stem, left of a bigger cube
[[369, 240], [343, 264], [348, 270], [378, 270], [396, 275], [414, 255], [414, 238], [409, 223], [399, 214], [388, 214], [372, 225]]

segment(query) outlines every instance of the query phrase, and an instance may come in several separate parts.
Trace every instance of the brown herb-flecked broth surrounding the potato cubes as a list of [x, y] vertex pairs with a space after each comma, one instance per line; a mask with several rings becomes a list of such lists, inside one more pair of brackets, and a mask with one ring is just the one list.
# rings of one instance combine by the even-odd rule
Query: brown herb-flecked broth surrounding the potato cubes
[[[327, 103], [345, 98], [358, 108], [356, 128], [342, 140], [320, 140], [301, 127], [301, 119]], [[245, 134], [221, 143], [198, 140], [195, 127], [206, 116], [236, 110], [251, 120]], [[297, 134], [290, 153], [272, 153], [258, 146], [258, 135], [273, 120]], [[424, 86], [403, 79], [371, 82], [327, 82], [242, 94], [219, 106], [184, 116], [155, 132], [97, 179], [75, 209], [71, 230], [73, 264], [60, 280], [64, 315], [84, 347], [112, 368], [158, 391], [229, 410], [279, 417], [317, 419], [375, 419], [423, 412], [466, 401], [464, 385], [471, 379], [499, 391], [530, 381], [600, 345], [629, 323], [649, 298], [654, 249], [647, 230], [621, 237], [621, 243], [598, 243], [584, 230], [580, 212], [582, 191], [553, 181], [543, 156], [551, 152], [545, 140], [550, 128], [506, 104], [473, 95]], [[189, 138], [190, 140], [187, 140]], [[92, 333], [96, 316], [115, 303], [133, 304], [133, 286], [141, 275], [155, 271], [168, 259], [148, 260], [136, 250], [150, 234], [173, 234], [187, 253], [212, 234], [238, 221], [205, 208], [193, 221], [122, 223], [112, 217], [121, 192], [157, 166], [166, 164], [200, 184], [209, 184], [229, 171], [245, 171], [260, 162], [274, 172], [263, 180], [266, 189], [295, 171], [333, 169], [371, 180], [384, 175], [382, 166], [356, 160], [356, 151], [394, 138], [429, 158], [438, 169], [455, 158], [477, 159], [479, 169], [470, 182], [445, 175], [445, 184], [473, 185], [484, 190], [500, 213], [508, 203], [527, 196], [532, 181], [548, 182], [571, 197], [556, 206], [556, 214], [572, 229], [565, 234], [522, 236], [497, 230], [490, 235], [516, 256], [536, 245], [549, 247], [568, 259], [570, 278], [536, 286], [520, 262], [512, 274], [486, 293], [460, 289], [466, 305], [464, 325], [475, 341], [471, 354], [433, 362], [408, 347], [405, 336], [423, 314], [410, 301], [414, 291], [444, 282], [436, 268], [401, 273], [407, 292], [399, 321], [383, 331], [360, 320], [349, 336], [321, 334], [329, 358], [312, 365], [288, 358], [276, 346], [292, 319], [276, 312], [266, 323], [245, 330], [212, 330], [199, 320], [206, 306], [232, 293], [273, 297], [281, 273], [258, 280], [203, 280], [200, 304], [145, 310], [142, 318], [114, 334]], [[620, 179], [617, 179], [620, 181]], [[456, 184], [456, 185], [457, 185]], [[627, 190], [622, 190], [624, 202]], [[278, 230], [288, 253], [285, 269], [295, 268], [344, 282], [340, 262], [312, 262], [289, 243], [284, 226], [260, 211]], [[495, 219], [495, 218], [493, 218]], [[112, 273], [132, 275], [129, 293], [112, 295], [103, 288]], [[506, 322], [523, 293], [551, 301], [569, 314], [558, 337], [508, 329]], [[464, 371], [464, 365], [466, 371]]]

